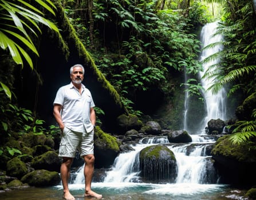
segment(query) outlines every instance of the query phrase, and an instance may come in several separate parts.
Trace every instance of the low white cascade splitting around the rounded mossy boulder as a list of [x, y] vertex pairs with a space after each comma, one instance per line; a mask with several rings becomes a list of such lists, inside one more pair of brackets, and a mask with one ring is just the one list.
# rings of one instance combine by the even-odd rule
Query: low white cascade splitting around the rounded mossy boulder
[[[204, 183], [216, 182], [216, 179], [207, 179], [209, 173], [214, 171], [206, 171], [207, 158], [206, 143], [196, 143], [191, 150], [191, 144], [177, 145], [168, 142], [167, 137], [143, 138], [140, 142], [133, 146], [134, 151], [120, 154], [110, 171], [107, 172], [105, 183], [122, 183], [122, 182], [141, 182], [139, 178], [139, 153], [142, 149], [150, 145], [169, 144], [167, 147], [174, 152], [178, 164], [178, 177], [175, 183]], [[212, 142], [207, 142], [211, 144]], [[157, 172], [156, 172], [157, 173]], [[214, 176], [214, 175], [213, 175]]]

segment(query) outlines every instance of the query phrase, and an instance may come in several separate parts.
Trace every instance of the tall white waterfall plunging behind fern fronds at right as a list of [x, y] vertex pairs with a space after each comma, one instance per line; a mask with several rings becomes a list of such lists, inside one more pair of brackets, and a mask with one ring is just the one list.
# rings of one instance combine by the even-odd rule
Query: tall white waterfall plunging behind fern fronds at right
[[[215, 35], [216, 28], [218, 27], [218, 22], [212, 22], [207, 23], [202, 31], [201, 31], [201, 42], [202, 46], [206, 47], [212, 43], [220, 42], [222, 41], [222, 35]], [[213, 55], [215, 53], [218, 53], [218, 51], [222, 50], [221, 45], [216, 45], [215, 47], [211, 47], [208, 49], [204, 49], [201, 54], [201, 61], [203, 61], [205, 58], [209, 57], [210, 55]], [[206, 111], [207, 116], [203, 119], [203, 127], [201, 130], [204, 130], [204, 128], [207, 126], [207, 122], [211, 119], [222, 119], [226, 120], [226, 91], [224, 88], [222, 88], [217, 94], [212, 94], [211, 91], [207, 91], [208, 87], [214, 82], [212, 78], [202, 78], [204, 73], [206, 73], [207, 70], [209, 70], [209, 67], [212, 65], [218, 64], [219, 59], [216, 58], [212, 61], [209, 61], [207, 63], [203, 63], [203, 71], [199, 73], [200, 80], [202, 83], [202, 86], [205, 91], [203, 91], [203, 97], [206, 102]], [[210, 71], [216, 70], [216, 67], [214, 69], [210, 69]]]

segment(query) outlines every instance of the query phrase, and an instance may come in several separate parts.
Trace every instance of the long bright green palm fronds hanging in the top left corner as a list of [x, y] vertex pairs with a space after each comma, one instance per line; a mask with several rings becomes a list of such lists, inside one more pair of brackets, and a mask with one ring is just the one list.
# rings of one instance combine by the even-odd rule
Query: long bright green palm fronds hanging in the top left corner
[[[50, 0], [36, 0], [36, 2], [38, 3], [38, 6], [44, 7], [50, 13], [55, 15], [52, 7], [54, 9], [56, 9], [56, 7]], [[58, 32], [57, 26], [44, 18], [44, 13], [42, 13], [42, 11], [23, 0], [0, 0], [0, 9], [0, 24], [2, 24], [0, 27], [0, 47], [3, 50], [8, 49], [15, 63], [22, 67], [23, 61], [21, 55], [23, 55], [31, 69], [33, 69], [33, 62], [31, 61], [30, 55], [20, 44], [29, 47], [30, 50], [38, 55], [37, 49], [34, 46], [29, 33], [33, 33], [37, 36], [33, 27], [36, 27], [37, 31], [41, 33], [37, 23], [42, 23]], [[30, 25], [28, 25], [27, 22], [29, 22]], [[18, 41], [16, 41], [16, 39], [18, 39]]]

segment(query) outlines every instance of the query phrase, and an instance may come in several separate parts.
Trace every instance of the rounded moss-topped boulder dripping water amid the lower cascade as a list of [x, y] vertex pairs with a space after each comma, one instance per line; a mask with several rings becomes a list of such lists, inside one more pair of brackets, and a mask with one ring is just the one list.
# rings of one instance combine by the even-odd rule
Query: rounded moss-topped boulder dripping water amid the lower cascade
[[177, 176], [174, 153], [163, 145], [145, 147], [140, 151], [140, 170], [143, 182], [170, 183]]

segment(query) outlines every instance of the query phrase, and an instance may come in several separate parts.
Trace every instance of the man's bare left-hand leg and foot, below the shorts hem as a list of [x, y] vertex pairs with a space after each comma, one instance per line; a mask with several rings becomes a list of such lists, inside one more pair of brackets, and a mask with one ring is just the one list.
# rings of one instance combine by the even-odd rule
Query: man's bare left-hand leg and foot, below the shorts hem
[[66, 200], [74, 200], [72, 194], [69, 192], [68, 182], [70, 176], [70, 167], [72, 165], [73, 158], [64, 157], [61, 163], [61, 181], [63, 185], [63, 198]]

